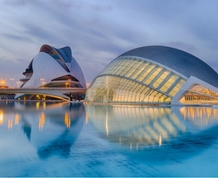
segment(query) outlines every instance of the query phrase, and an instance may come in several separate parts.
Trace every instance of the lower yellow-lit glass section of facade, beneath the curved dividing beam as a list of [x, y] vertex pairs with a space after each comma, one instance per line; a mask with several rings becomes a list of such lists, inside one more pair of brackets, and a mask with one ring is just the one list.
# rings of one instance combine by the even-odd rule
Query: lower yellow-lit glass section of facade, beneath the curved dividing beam
[[114, 76], [97, 78], [86, 93], [86, 101], [91, 102], [164, 102], [165, 99], [158, 91]]

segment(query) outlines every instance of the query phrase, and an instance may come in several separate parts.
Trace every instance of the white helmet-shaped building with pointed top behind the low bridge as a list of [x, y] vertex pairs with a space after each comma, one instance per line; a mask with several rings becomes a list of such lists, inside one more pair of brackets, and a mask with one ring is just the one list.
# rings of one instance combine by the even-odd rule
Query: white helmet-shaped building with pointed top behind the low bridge
[[[23, 73], [25, 78], [21, 88], [86, 88], [83, 72], [72, 57], [70, 47], [60, 49], [47, 44], [41, 46], [39, 53], [32, 59]], [[64, 94], [62, 98], [68, 98]], [[54, 96], [55, 97], [55, 96]], [[84, 99], [83, 95], [75, 95], [75, 99]], [[54, 99], [53, 96], [22, 94], [17, 99]]]

